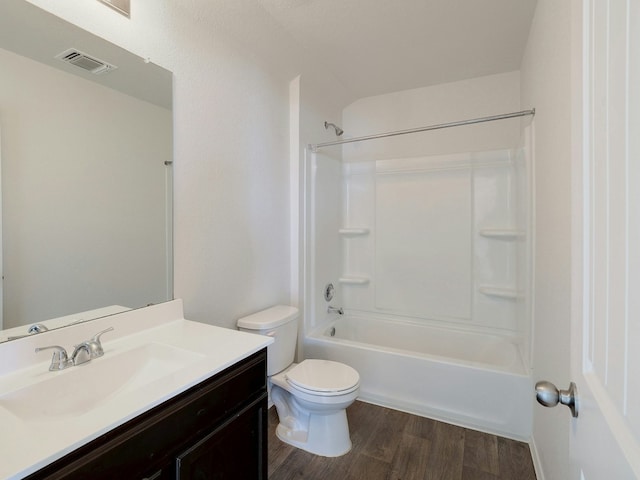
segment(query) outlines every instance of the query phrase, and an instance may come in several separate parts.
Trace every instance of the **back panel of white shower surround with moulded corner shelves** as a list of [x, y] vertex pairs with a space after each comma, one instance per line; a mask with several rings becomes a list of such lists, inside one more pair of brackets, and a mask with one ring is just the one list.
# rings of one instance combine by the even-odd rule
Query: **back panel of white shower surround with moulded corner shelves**
[[522, 150], [343, 164], [343, 306], [521, 334], [523, 169]]

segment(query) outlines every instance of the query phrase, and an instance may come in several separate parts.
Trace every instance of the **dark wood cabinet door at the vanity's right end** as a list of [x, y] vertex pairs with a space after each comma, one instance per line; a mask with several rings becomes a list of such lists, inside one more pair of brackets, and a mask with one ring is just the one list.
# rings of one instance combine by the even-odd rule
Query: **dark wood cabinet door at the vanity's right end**
[[266, 444], [265, 395], [179, 455], [176, 478], [266, 480]]

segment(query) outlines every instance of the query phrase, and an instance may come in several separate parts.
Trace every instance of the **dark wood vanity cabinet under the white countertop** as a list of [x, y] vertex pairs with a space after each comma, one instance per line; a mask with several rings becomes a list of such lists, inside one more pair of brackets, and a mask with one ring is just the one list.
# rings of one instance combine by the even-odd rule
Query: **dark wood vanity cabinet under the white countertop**
[[27, 477], [267, 478], [266, 350]]

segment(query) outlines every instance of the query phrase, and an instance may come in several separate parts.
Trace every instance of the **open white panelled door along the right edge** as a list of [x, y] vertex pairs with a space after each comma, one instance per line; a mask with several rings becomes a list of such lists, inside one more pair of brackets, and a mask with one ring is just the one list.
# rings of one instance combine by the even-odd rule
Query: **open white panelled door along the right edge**
[[[640, 478], [640, 0], [577, 0], [571, 478]], [[580, 114], [581, 112], [581, 114]], [[565, 387], [565, 386], [559, 386]]]

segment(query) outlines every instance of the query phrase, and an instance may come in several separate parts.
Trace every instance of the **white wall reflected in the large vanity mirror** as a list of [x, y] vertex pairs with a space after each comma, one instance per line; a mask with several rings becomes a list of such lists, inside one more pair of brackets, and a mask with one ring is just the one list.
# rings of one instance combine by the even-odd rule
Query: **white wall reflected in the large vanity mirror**
[[171, 112], [0, 50], [5, 327], [167, 300]]

